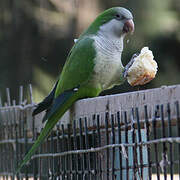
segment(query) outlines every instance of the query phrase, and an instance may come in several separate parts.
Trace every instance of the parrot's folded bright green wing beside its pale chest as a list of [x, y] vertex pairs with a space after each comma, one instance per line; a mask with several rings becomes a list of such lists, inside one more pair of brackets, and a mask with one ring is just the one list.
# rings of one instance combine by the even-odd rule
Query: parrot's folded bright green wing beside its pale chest
[[91, 77], [96, 56], [93, 42], [94, 40], [89, 37], [76, 42], [60, 75], [55, 96], [85, 84]]

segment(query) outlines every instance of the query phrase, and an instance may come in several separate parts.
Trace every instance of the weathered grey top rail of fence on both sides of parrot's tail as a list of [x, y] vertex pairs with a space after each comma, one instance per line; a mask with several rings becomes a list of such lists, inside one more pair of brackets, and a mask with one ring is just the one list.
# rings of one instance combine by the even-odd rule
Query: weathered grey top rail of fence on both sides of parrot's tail
[[[22, 99], [22, 97], [21, 97]], [[65, 113], [65, 115], [59, 121], [59, 124], [64, 124], [66, 129], [67, 124], [72, 123], [72, 120], [78, 120], [79, 118], [87, 117], [87, 125], [89, 128], [93, 127], [93, 119], [92, 116], [94, 114], [100, 115], [100, 126], [104, 127], [104, 116], [105, 112], [109, 112], [110, 114], [117, 113], [118, 111], [123, 113], [127, 111], [128, 122], [131, 121], [131, 110], [132, 108], [139, 108], [139, 116], [140, 120], [143, 122], [144, 120], [144, 106], [147, 105], [148, 108], [148, 116], [150, 118], [153, 117], [153, 113], [155, 110], [155, 106], [167, 103], [170, 103], [171, 106], [171, 117], [172, 119], [176, 119], [176, 111], [174, 102], [180, 100], [180, 85], [175, 86], [163, 86], [161, 88], [156, 89], [148, 89], [143, 91], [122, 93], [116, 95], [108, 95], [108, 96], [100, 96], [96, 98], [88, 98], [77, 101], [69, 111]], [[19, 123], [19, 117], [22, 111], [26, 113], [26, 125], [29, 131], [29, 134], [32, 134], [33, 128], [33, 117], [32, 111], [34, 109], [35, 104], [28, 104], [25, 106], [16, 105], [16, 106], [6, 106], [0, 108], [0, 116], [1, 116], [1, 124], [7, 121], [7, 113], [16, 112], [16, 123]], [[38, 132], [44, 126], [42, 124], [42, 117], [44, 113], [40, 113], [35, 116], [34, 123], [35, 128]], [[166, 118], [166, 115], [165, 115]], [[11, 121], [13, 123], [15, 121]], [[121, 120], [122, 125], [124, 124], [123, 119]], [[117, 122], [115, 122], [115, 125]], [[158, 123], [157, 123], [158, 124]], [[176, 122], [172, 122], [172, 124], [176, 124]], [[78, 125], [78, 123], [77, 123]], [[159, 124], [160, 125], [160, 124]], [[60, 126], [61, 127], [61, 126]], [[78, 127], [78, 126], [77, 126]], [[122, 126], [123, 127], [123, 126]]]

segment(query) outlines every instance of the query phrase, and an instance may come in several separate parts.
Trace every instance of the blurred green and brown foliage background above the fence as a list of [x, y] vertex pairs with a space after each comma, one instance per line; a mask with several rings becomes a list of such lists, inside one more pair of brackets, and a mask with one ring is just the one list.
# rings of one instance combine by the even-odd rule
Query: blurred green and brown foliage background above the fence
[[[140, 89], [180, 83], [180, 0], [1, 0], [0, 91], [18, 99], [19, 85], [33, 86], [36, 102], [58, 78], [74, 38], [103, 10], [123, 6], [134, 14], [135, 32], [126, 37], [125, 65], [149, 46], [158, 62], [156, 78]], [[102, 95], [134, 91], [126, 82]]]

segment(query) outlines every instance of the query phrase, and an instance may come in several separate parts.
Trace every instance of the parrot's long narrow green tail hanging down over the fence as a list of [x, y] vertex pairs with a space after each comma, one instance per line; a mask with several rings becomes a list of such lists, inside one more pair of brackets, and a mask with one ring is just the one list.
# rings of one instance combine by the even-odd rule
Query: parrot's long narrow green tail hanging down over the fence
[[19, 164], [16, 169], [16, 174], [21, 170], [21, 168], [31, 159], [32, 155], [38, 149], [38, 147], [43, 143], [45, 138], [50, 134], [53, 127], [56, 125], [58, 120], [63, 116], [63, 114], [70, 108], [70, 106], [76, 101], [77, 95], [74, 91], [66, 92], [66, 94], [62, 94], [56, 98], [54, 105], [52, 106], [52, 111], [49, 112], [48, 121], [41, 131], [38, 139], [35, 141], [31, 149], [25, 155], [22, 162]]

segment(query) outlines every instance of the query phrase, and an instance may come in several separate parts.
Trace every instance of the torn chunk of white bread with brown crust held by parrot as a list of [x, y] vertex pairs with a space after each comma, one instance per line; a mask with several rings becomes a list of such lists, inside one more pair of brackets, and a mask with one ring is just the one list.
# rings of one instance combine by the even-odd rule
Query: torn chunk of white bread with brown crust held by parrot
[[143, 85], [155, 78], [158, 66], [148, 47], [142, 48], [141, 53], [134, 60], [127, 76], [131, 86]]

